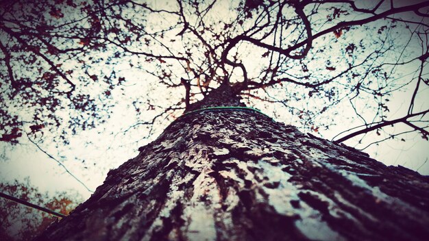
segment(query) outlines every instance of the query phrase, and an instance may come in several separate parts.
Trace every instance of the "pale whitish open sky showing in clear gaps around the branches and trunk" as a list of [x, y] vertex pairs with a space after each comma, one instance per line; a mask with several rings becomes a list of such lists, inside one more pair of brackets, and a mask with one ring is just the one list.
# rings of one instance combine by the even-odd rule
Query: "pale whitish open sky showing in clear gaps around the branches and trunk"
[[[402, 3], [402, 2], [398, 2]], [[158, 1], [158, 5], [162, 4]], [[217, 6], [219, 9], [215, 9], [214, 12], [218, 14], [217, 18], [222, 18], [223, 8], [221, 5]], [[151, 21], [155, 21], [151, 19]], [[169, 21], [169, 19], [166, 19]], [[362, 34], [361, 34], [362, 35]], [[365, 38], [356, 34], [351, 36], [350, 34], [344, 34], [343, 38], [347, 41], [347, 38]], [[334, 36], [330, 36], [334, 40]], [[330, 40], [330, 41], [333, 41]], [[241, 48], [249, 48], [248, 46], [242, 45]], [[252, 47], [250, 47], [252, 48]], [[252, 54], [262, 52], [258, 49], [251, 49]], [[245, 52], [242, 50], [242, 52]], [[250, 52], [250, 51], [249, 51]], [[251, 56], [252, 57], [252, 56]], [[129, 160], [137, 155], [138, 147], [141, 147], [151, 140], [154, 140], [162, 132], [171, 120], [161, 118], [155, 125], [155, 129], [150, 131], [144, 125], [137, 125], [131, 128], [139, 121], [136, 116], [130, 115], [133, 106], [130, 103], [130, 99], [151, 99], [153, 103], [161, 105], [161, 107], [168, 106], [169, 103], [163, 102], [164, 97], [175, 97], [179, 99], [182, 94], [182, 89], [169, 89], [162, 90], [156, 88], [156, 82], [158, 79], [154, 79], [149, 73], [142, 71], [138, 68], [133, 68], [130, 63], [134, 63], [134, 66], [140, 61], [139, 57], [132, 56], [123, 58], [122, 61], [115, 62], [114, 69], [118, 75], [125, 77], [126, 83], [121, 86], [123, 90], [118, 90], [117, 93], [112, 93], [115, 98], [119, 98], [119, 104], [114, 105], [110, 108], [112, 114], [108, 118], [107, 122], [103, 125], [97, 126], [95, 129], [89, 129], [86, 131], [79, 132], [75, 136], [71, 136], [70, 144], [66, 146], [58, 146], [52, 144], [52, 142], [44, 142], [40, 144], [40, 149], [49, 153], [56, 160], [61, 162], [69, 171], [73, 173], [77, 179], [81, 180], [90, 190], [95, 190], [97, 186], [103, 183], [106, 178], [108, 170], [117, 168], [123, 162]], [[262, 58], [255, 60], [255, 58], [247, 58], [243, 62], [252, 69], [252, 64], [258, 65], [258, 61], [263, 61]], [[73, 62], [69, 63], [73, 64]], [[315, 65], [324, 64], [321, 62], [315, 62]], [[94, 71], [101, 73], [108, 73], [110, 66], [97, 66]], [[407, 66], [409, 68], [409, 66]], [[414, 66], [417, 68], [417, 66]], [[413, 68], [400, 70], [404, 73], [402, 78], [397, 81], [407, 81], [406, 79], [415, 77], [415, 71]], [[241, 76], [239, 71], [234, 72], [236, 78]], [[414, 76], [413, 76], [414, 75]], [[424, 73], [424, 76], [428, 76], [428, 73]], [[408, 89], [404, 92], [394, 94], [391, 98], [389, 107], [391, 108], [391, 115], [389, 118], [400, 117], [408, 110], [408, 103], [410, 101], [410, 94], [413, 92], [411, 84]], [[116, 91], [116, 90], [115, 90]], [[273, 90], [272, 94], [281, 95], [283, 90]], [[127, 93], [124, 97], [121, 95], [123, 92]], [[143, 96], [142, 96], [143, 93]], [[416, 107], [419, 110], [428, 109], [427, 97], [429, 96], [429, 88], [425, 86], [419, 90], [419, 99]], [[201, 97], [198, 97], [201, 98]], [[368, 100], [367, 100], [368, 101]], [[254, 107], [257, 107], [265, 114], [273, 117], [275, 121], [280, 121], [285, 124], [294, 125], [297, 123], [297, 116], [289, 112], [282, 110], [281, 106], [272, 105], [267, 103], [261, 103], [258, 101], [252, 101]], [[308, 103], [306, 103], [308, 104]], [[319, 103], [310, 103], [310, 105], [319, 105]], [[365, 104], [358, 103], [362, 108], [365, 108]], [[355, 116], [350, 103], [341, 103], [337, 105], [331, 111], [331, 116], [335, 116], [336, 125], [330, 126], [330, 129], [319, 129], [319, 131], [312, 131], [311, 134], [322, 136], [331, 140], [334, 136], [341, 131], [361, 125], [358, 120], [352, 119]], [[156, 112], [152, 110], [145, 111], [144, 115], [154, 116]], [[181, 111], [173, 113], [175, 117], [180, 116]], [[64, 118], [67, 118], [64, 114]], [[396, 129], [406, 129], [402, 125], [395, 125]], [[302, 129], [304, 132], [308, 132], [308, 129]], [[387, 131], [387, 129], [385, 129]], [[150, 135], [149, 135], [150, 134]], [[149, 138], [147, 138], [149, 136]], [[52, 136], [47, 135], [46, 138]], [[377, 140], [379, 138], [376, 133], [371, 133], [366, 136], [367, 140]], [[418, 170], [423, 175], [429, 175], [429, 142], [422, 141], [421, 136], [418, 133], [406, 134], [403, 137], [405, 142], [402, 140], [387, 140], [386, 142], [380, 143], [380, 145], [371, 145], [364, 151], [369, 153], [371, 157], [383, 162], [387, 165], [401, 165], [406, 166], [412, 170]], [[55, 141], [55, 140], [53, 140]], [[357, 149], [365, 147], [363, 144], [356, 144], [355, 140], [349, 140], [345, 144], [349, 144]], [[9, 144], [0, 143], [1, 150], [3, 153], [1, 157], [3, 160], [0, 161], [0, 177], [1, 181], [12, 181], [14, 179], [23, 180], [25, 177], [29, 177], [32, 185], [38, 187], [42, 192], [50, 192], [55, 194], [58, 191], [64, 190], [77, 190], [79, 194], [86, 199], [92, 193], [87, 190], [81, 183], [75, 178], [71, 177], [69, 173], [64, 171], [64, 168], [49, 157], [46, 153], [40, 151], [32, 142], [23, 138], [22, 143], [14, 147]]]

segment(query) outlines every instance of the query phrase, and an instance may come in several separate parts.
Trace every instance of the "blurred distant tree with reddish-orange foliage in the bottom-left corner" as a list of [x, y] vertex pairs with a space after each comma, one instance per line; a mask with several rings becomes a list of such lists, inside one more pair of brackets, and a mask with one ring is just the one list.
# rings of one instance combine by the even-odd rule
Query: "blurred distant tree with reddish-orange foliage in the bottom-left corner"
[[[82, 202], [82, 197], [70, 192], [60, 192], [52, 198], [49, 194], [41, 193], [38, 188], [34, 188], [29, 179], [25, 179], [24, 182], [15, 180], [11, 183], [0, 183], [0, 192], [64, 215], [69, 215], [69, 212]], [[0, 207], [1, 240], [32, 240], [58, 219], [51, 214], [2, 198]]]

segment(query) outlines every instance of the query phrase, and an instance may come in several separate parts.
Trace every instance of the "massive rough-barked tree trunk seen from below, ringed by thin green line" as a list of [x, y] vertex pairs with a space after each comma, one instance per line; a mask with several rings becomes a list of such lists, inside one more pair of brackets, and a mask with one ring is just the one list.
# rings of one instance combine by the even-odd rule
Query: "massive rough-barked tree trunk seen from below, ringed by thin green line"
[[[242, 105], [230, 88], [190, 110]], [[36, 240], [427, 240], [429, 178], [251, 110], [175, 121]]]

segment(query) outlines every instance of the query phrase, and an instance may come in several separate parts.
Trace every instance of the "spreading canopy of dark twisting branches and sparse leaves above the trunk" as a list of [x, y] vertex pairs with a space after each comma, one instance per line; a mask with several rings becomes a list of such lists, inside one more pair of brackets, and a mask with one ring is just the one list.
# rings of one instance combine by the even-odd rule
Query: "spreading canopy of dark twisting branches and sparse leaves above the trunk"
[[306, 131], [343, 125], [334, 140], [361, 149], [429, 137], [429, 1], [0, 4], [3, 142], [68, 144], [115, 112], [147, 137], [222, 83]]

